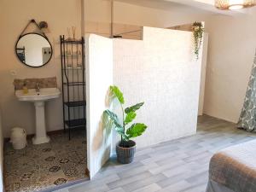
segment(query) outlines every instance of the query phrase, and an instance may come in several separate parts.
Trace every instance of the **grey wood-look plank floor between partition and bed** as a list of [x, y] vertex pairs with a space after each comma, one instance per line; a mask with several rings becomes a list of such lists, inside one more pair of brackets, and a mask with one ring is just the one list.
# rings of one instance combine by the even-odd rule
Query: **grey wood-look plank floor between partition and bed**
[[196, 135], [138, 148], [129, 165], [112, 158], [93, 180], [55, 192], [205, 192], [212, 154], [253, 139], [256, 134], [204, 115]]

